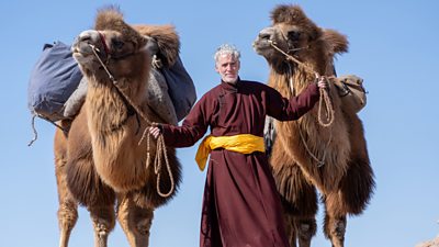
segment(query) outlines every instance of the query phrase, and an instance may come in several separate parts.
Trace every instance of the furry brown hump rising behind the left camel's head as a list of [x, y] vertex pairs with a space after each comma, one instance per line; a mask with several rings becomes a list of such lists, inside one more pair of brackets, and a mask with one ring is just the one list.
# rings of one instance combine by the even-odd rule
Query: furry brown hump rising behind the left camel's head
[[153, 37], [157, 42], [158, 58], [165, 67], [171, 67], [180, 53], [180, 38], [173, 25], [133, 25], [142, 35]]

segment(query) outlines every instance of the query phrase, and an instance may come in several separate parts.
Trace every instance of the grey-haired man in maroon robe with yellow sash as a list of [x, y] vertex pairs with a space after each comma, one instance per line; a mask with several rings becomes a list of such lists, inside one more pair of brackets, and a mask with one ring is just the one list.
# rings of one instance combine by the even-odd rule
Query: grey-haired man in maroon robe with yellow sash
[[193, 106], [182, 126], [159, 124], [149, 128], [173, 147], [200, 145], [196, 161], [204, 169], [211, 155], [201, 218], [201, 247], [288, 247], [280, 198], [264, 154], [266, 115], [297, 120], [319, 99], [320, 79], [300, 96], [285, 99], [267, 85], [238, 77], [240, 54], [234, 46], [216, 50], [221, 83]]

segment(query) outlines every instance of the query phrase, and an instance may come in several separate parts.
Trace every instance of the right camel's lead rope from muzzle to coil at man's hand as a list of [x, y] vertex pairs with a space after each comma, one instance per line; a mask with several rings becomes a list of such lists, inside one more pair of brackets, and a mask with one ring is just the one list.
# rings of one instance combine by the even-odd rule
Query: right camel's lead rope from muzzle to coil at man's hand
[[[297, 58], [295, 58], [294, 56], [283, 52], [281, 48], [279, 48], [275, 45], [275, 42], [273, 41], [269, 41], [270, 45], [277, 49], [278, 52], [282, 53], [286, 60], [293, 61], [295, 64], [297, 64], [299, 66], [301, 66], [302, 68], [304, 68], [307, 72], [315, 75], [316, 78], [319, 78], [320, 75], [318, 72], [316, 72], [313, 68], [311, 68], [309, 66], [305, 65], [304, 63], [300, 61]], [[328, 80], [328, 78], [325, 77], [325, 80]], [[318, 123], [324, 126], [324, 127], [328, 127], [333, 124], [334, 119], [335, 119], [335, 111], [334, 111], [334, 105], [333, 105], [333, 101], [330, 99], [330, 96], [328, 93], [327, 89], [319, 89], [320, 91], [320, 98], [318, 101], [318, 112], [317, 112], [317, 119], [318, 119]], [[324, 117], [324, 109], [325, 109], [325, 117]]]

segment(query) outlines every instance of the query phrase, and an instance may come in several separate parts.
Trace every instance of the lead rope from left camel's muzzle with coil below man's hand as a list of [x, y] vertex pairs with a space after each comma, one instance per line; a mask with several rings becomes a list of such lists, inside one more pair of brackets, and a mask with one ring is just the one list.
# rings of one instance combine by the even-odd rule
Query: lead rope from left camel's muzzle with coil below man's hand
[[[101, 60], [101, 58], [98, 55], [98, 52], [100, 52], [98, 49], [98, 47], [95, 47], [92, 44], [89, 44], [89, 46], [91, 47], [91, 50], [93, 50], [94, 56], [98, 58], [99, 63], [102, 65], [102, 67], [105, 69], [106, 75], [109, 76], [110, 80], [113, 82], [113, 85], [115, 86], [116, 90], [125, 98], [125, 100], [134, 108], [134, 110], [136, 111], [137, 114], [139, 114], [142, 116], [143, 120], [145, 120], [145, 122], [147, 123], [147, 125], [154, 125], [155, 123], [150, 122], [148, 120], [148, 116], [145, 115], [145, 113], [143, 111], [140, 111], [140, 109], [123, 92], [123, 90], [121, 90], [121, 88], [119, 88], [119, 82], [116, 79], [114, 79], [113, 75], [111, 75], [111, 72], [109, 71], [109, 69], [106, 68], [105, 64]], [[138, 141], [138, 145], [142, 144], [142, 142], [145, 139], [145, 137], [147, 137], [147, 142], [146, 142], [146, 149], [147, 149], [147, 156], [146, 156], [146, 168], [149, 167], [149, 162], [150, 162], [150, 154], [149, 154], [149, 148], [150, 148], [150, 142], [149, 142], [149, 135], [150, 133], [148, 132], [148, 126], [145, 127], [145, 131], [142, 134], [142, 138], [140, 141]], [[169, 189], [169, 191], [167, 193], [161, 192], [160, 190], [160, 170], [161, 170], [161, 159], [160, 157], [165, 158], [165, 162], [166, 162], [166, 168], [167, 171], [169, 173], [169, 180], [171, 183], [171, 188]], [[173, 190], [175, 190], [175, 182], [173, 182], [173, 175], [169, 165], [169, 159], [168, 159], [168, 153], [166, 150], [166, 145], [165, 145], [165, 138], [164, 135], [160, 134], [157, 138], [157, 149], [156, 149], [156, 158], [154, 160], [154, 172], [157, 175], [157, 193], [162, 197], [162, 198], [168, 198], [169, 195], [172, 194]]]

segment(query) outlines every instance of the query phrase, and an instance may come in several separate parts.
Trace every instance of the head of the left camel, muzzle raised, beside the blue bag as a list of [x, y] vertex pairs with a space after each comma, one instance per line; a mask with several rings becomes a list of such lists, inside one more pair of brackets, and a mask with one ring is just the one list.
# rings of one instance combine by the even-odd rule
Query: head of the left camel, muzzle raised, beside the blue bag
[[111, 81], [101, 61], [115, 79], [144, 77], [150, 68], [148, 37], [126, 24], [114, 7], [100, 10], [94, 30], [80, 33], [71, 49], [85, 76], [97, 82]]

